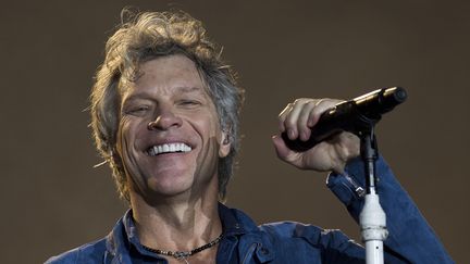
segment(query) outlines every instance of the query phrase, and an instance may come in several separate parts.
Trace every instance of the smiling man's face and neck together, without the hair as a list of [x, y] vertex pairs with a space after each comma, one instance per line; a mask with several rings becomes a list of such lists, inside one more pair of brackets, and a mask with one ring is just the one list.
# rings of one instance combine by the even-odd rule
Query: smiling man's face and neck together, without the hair
[[222, 234], [214, 202], [218, 160], [227, 156], [231, 143], [191, 60], [171, 54], [139, 71], [122, 92], [116, 142], [137, 234], [149, 248], [187, 247], [178, 241], [197, 248]]

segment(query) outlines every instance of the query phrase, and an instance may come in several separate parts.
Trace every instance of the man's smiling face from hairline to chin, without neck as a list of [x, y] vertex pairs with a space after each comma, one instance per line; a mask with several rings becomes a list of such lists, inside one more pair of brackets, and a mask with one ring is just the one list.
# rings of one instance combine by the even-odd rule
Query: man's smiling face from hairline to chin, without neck
[[131, 196], [217, 193], [218, 160], [230, 143], [194, 62], [169, 55], [140, 72], [123, 91], [118, 131]]

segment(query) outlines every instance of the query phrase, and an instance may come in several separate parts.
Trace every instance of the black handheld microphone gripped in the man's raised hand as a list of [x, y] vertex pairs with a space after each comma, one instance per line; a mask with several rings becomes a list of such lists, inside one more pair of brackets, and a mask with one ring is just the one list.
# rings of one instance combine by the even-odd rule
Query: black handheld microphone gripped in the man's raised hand
[[370, 130], [396, 105], [405, 102], [407, 92], [401, 87], [382, 88], [336, 104], [326, 110], [311, 129], [307, 141], [290, 140], [286, 133], [281, 136], [286, 146], [294, 151], [306, 151], [341, 131], [360, 134]]

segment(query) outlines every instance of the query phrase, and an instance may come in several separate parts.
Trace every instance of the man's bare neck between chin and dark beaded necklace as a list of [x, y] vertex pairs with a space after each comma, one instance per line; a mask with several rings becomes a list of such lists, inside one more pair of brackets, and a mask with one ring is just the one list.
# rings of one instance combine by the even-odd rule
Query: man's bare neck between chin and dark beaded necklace
[[152, 204], [132, 196], [131, 204], [140, 243], [149, 248], [190, 251], [222, 232], [217, 191], [197, 199], [158, 199]]

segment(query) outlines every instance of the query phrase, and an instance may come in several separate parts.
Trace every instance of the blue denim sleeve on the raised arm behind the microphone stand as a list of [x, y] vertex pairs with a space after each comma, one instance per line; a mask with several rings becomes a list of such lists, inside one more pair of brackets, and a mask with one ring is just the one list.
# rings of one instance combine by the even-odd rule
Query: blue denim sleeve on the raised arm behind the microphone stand
[[[387, 263], [454, 263], [415, 202], [403, 189], [382, 156], [376, 162], [376, 189], [386, 214], [388, 237], [384, 241]], [[327, 187], [358, 223], [363, 206], [364, 164], [352, 160], [345, 173], [331, 173]]]

